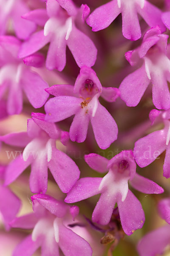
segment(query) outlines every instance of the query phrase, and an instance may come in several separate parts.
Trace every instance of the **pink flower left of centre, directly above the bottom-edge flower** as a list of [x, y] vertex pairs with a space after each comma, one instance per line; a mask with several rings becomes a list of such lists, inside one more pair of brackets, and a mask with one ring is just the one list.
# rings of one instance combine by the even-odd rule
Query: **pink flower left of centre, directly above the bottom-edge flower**
[[46, 192], [49, 168], [61, 191], [67, 193], [79, 178], [79, 168], [70, 157], [56, 148], [61, 131], [55, 124], [45, 122], [44, 116], [32, 113], [32, 118], [28, 119], [27, 133], [1, 136], [0, 139], [7, 144], [26, 146], [23, 154], [9, 163], [5, 184], [13, 182], [31, 164], [31, 192]]

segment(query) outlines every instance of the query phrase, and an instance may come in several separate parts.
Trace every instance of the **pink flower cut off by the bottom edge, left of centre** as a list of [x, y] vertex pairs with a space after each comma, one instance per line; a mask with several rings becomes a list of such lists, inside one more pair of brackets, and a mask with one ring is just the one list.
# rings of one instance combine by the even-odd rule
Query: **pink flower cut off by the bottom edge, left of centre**
[[59, 248], [65, 256], [92, 256], [88, 242], [65, 227], [64, 221], [70, 210], [68, 205], [42, 194], [33, 195], [31, 200], [34, 213], [11, 222], [12, 227], [33, 228], [32, 235], [17, 245], [13, 256], [31, 256], [39, 247], [42, 256], [59, 256]]

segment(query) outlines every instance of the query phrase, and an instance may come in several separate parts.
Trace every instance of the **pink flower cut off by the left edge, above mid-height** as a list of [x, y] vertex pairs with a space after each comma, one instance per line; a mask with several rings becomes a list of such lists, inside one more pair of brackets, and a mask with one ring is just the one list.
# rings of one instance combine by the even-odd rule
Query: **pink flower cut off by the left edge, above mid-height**
[[[12, 36], [0, 37], [0, 99], [8, 90], [7, 112], [19, 114], [23, 108], [23, 92], [34, 108], [40, 108], [48, 98], [45, 88], [48, 84], [23, 60], [17, 58], [20, 41]], [[32, 55], [26, 64], [40, 66], [42, 55]], [[40, 97], [41, 94], [41, 97]]]

